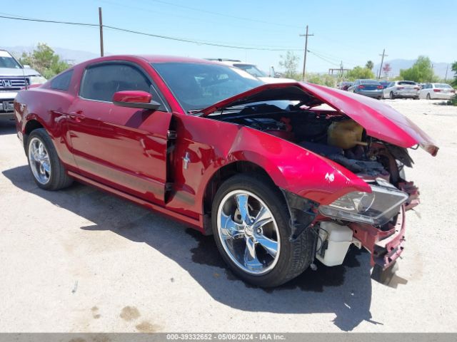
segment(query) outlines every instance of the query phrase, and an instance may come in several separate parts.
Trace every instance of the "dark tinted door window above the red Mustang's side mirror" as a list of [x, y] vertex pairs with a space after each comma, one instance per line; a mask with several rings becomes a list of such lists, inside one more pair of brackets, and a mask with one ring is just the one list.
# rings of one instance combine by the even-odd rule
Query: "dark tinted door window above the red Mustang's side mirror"
[[[122, 63], [103, 63], [89, 66], [81, 81], [81, 97], [111, 102], [121, 90], [151, 91], [151, 82], [138, 68]], [[156, 95], [153, 93], [153, 96]], [[159, 98], [154, 98], [159, 100]], [[159, 101], [161, 102], [161, 101]]]

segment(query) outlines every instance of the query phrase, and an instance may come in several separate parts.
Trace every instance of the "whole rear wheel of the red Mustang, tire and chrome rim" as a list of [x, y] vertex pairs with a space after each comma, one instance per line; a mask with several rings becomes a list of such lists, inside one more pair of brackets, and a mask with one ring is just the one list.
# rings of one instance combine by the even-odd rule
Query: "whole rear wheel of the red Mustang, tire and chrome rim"
[[64, 165], [59, 160], [51, 137], [44, 128], [38, 128], [30, 133], [26, 144], [26, 155], [34, 181], [41, 189], [60, 190], [73, 182], [73, 178], [66, 173]]

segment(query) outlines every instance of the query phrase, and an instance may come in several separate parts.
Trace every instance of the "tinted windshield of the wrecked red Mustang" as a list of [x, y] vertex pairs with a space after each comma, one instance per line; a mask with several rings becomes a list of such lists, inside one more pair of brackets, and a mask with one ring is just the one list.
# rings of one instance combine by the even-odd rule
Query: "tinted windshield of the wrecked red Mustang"
[[151, 63], [167, 86], [190, 112], [263, 84], [245, 71], [206, 63]]

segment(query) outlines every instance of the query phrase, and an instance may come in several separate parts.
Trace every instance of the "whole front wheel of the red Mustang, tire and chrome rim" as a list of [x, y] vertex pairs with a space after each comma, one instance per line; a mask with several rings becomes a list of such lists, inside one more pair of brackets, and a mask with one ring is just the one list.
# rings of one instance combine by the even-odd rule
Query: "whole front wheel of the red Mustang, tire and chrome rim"
[[[257, 226], [261, 232], [256, 223], [251, 221], [251, 226], [246, 226], [246, 220], [241, 219], [243, 212], [238, 208], [243, 207], [243, 203], [251, 219], [257, 217], [262, 208], [266, 209], [258, 222], [268, 222], [268, 217], [271, 221]], [[212, 213], [212, 229], [219, 252], [243, 281], [261, 287], [278, 286], [301, 274], [313, 261], [315, 235], [306, 229], [296, 241], [289, 241], [291, 227], [286, 201], [268, 179], [252, 174], [229, 178], [216, 192]]]

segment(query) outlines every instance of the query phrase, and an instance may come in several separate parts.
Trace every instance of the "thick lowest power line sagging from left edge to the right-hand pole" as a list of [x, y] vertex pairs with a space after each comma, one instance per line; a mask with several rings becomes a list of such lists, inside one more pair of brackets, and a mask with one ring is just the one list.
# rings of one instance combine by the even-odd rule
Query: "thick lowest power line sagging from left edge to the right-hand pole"
[[[32, 18], [18, 18], [18, 17], [13, 17], [13, 16], [0, 16], [0, 18], [3, 19], [12, 19], [12, 20], [21, 20], [21, 21], [38, 21], [41, 23], [51, 23], [51, 24], [67, 24], [67, 25], [76, 25], [76, 26], [93, 26], [93, 27], [100, 27], [100, 24], [89, 24], [89, 23], [77, 23], [74, 21], [56, 21], [56, 20], [45, 20], [45, 19], [32, 19]], [[230, 44], [225, 44], [225, 43], [215, 43], [215, 42], [210, 42], [210, 41], [197, 41], [191, 38], [179, 38], [179, 37], [173, 37], [173, 36], [164, 36], [164, 35], [159, 35], [159, 34], [153, 34], [153, 33], [146, 33], [146, 32], [141, 32], [141, 31], [135, 31], [135, 30], [129, 30], [127, 28], [120, 28], [116, 26], [109, 26], [109, 25], [102, 25], [104, 28], [111, 28], [111, 30], [116, 30], [116, 31], [123, 31], [123, 32], [128, 32], [128, 33], [135, 33], [139, 34], [142, 36], [151, 36], [155, 38], [163, 38], [163, 39], [169, 39], [171, 41], [182, 41], [184, 43], [195, 43], [199, 45], [207, 45], [207, 46], [218, 46], [221, 48], [238, 48], [241, 50], [258, 50], [258, 51], [303, 51], [301, 48], [273, 48], [273, 47], [261, 47], [261, 46], [236, 46], [236, 45], [230, 45]]]

